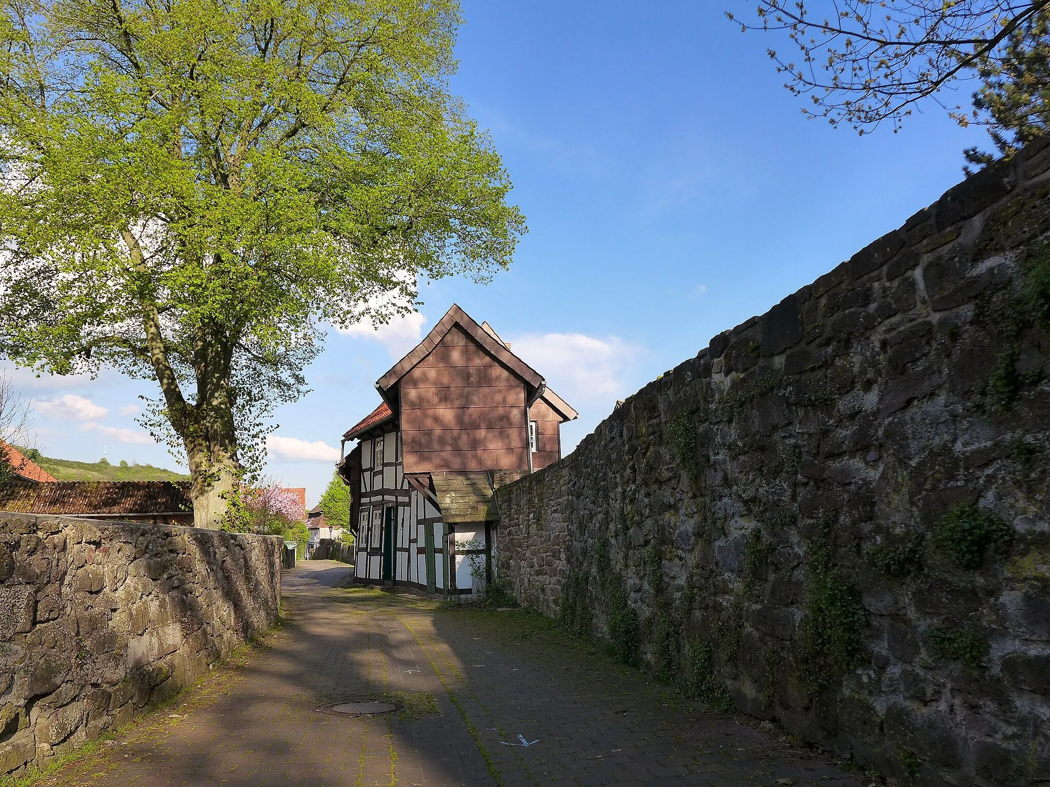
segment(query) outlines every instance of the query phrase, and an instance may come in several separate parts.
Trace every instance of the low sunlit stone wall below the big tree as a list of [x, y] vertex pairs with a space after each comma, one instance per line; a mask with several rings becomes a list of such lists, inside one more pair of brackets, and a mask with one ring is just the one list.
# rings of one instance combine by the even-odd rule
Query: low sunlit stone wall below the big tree
[[0, 777], [206, 675], [272, 626], [278, 536], [0, 512]]

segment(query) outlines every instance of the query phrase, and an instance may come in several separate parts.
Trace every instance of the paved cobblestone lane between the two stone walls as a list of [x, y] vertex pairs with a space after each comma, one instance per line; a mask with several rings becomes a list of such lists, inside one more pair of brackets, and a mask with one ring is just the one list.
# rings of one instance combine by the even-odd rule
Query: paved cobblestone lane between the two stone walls
[[[46, 784], [863, 784], [539, 615], [333, 588], [346, 570], [316, 560], [287, 572], [290, 619], [268, 648], [213, 681], [207, 701], [161, 710]], [[392, 695], [406, 703], [400, 716], [317, 709]]]

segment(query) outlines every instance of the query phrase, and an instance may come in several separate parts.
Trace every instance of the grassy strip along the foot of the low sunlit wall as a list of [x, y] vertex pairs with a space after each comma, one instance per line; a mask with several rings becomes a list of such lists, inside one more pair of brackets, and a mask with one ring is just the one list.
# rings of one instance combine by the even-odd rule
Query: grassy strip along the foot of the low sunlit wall
[[129, 723], [108, 729], [92, 741], [32, 766], [17, 777], [0, 777], [0, 787], [90, 787], [119, 764], [123, 746], [164, 735], [189, 714], [207, 707], [243, 679], [242, 669], [280, 635], [279, 624], [258, 639], [245, 643], [224, 659], [215, 669], [174, 697], [146, 705]]

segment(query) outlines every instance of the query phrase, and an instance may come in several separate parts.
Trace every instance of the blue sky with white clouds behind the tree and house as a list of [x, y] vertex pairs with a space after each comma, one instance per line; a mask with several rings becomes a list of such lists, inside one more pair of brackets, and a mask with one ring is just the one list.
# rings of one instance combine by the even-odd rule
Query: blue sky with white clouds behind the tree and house
[[[784, 41], [740, 34], [727, 9], [753, 4], [464, 1], [453, 87], [489, 129], [529, 233], [491, 284], [433, 282], [419, 315], [332, 333], [312, 392], [275, 416], [270, 476], [313, 505], [376, 379], [453, 302], [580, 410], [568, 450], [616, 399], [937, 199], [962, 179], [964, 147], [988, 147], [933, 104], [896, 134], [805, 120], [765, 56]], [[45, 453], [177, 469], [134, 422], [149, 384], [7, 369]]]

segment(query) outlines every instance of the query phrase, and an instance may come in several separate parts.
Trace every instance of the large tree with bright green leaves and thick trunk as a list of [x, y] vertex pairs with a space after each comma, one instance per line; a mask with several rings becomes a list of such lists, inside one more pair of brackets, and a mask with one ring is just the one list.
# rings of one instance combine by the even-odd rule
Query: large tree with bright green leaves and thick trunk
[[154, 380], [216, 527], [327, 323], [525, 230], [447, 88], [456, 0], [0, 0], [0, 350]]

